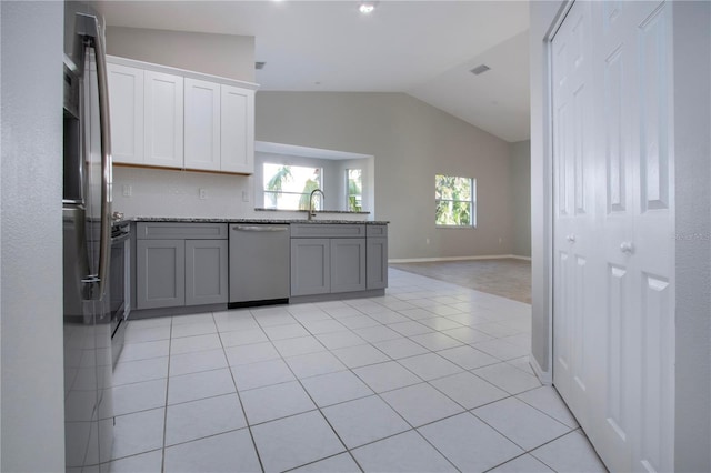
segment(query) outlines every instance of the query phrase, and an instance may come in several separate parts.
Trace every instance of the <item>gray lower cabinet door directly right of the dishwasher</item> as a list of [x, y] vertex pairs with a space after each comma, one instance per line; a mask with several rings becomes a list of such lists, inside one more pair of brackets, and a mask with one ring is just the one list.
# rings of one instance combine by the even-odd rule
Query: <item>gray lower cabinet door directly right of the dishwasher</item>
[[291, 295], [331, 292], [331, 240], [291, 240]]

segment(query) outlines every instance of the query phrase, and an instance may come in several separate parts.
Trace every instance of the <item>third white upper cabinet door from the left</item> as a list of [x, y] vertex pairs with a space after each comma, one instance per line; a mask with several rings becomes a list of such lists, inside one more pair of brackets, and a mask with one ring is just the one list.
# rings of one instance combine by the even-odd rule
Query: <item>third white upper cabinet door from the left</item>
[[220, 170], [220, 84], [186, 78], [186, 169]]

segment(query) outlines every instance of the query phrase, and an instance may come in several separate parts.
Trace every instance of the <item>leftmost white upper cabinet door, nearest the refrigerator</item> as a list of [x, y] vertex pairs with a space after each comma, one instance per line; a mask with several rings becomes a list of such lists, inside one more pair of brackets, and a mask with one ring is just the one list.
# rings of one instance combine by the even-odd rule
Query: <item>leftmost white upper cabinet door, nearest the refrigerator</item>
[[143, 70], [108, 64], [113, 161], [143, 164]]

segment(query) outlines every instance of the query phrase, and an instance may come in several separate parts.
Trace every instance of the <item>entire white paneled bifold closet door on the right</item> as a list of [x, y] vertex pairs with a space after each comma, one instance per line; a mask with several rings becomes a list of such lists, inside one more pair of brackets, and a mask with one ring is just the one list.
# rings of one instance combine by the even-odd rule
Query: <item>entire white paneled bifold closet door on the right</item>
[[[575, 2], [552, 43], [554, 191], [569, 194], [554, 208], [553, 380], [613, 471], [673, 471], [671, 24], [664, 2]], [[587, 115], [570, 117], [568, 71], [587, 58], [593, 110], [580, 135], [571, 127]], [[568, 211], [580, 145], [592, 155], [581, 168], [590, 233]]]

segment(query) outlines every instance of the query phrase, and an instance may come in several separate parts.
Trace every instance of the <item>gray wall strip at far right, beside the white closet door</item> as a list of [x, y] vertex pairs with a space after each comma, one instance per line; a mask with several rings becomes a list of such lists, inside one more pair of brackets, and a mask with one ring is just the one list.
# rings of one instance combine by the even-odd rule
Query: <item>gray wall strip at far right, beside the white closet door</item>
[[675, 471], [711, 471], [711, 3], [673, 2]]

